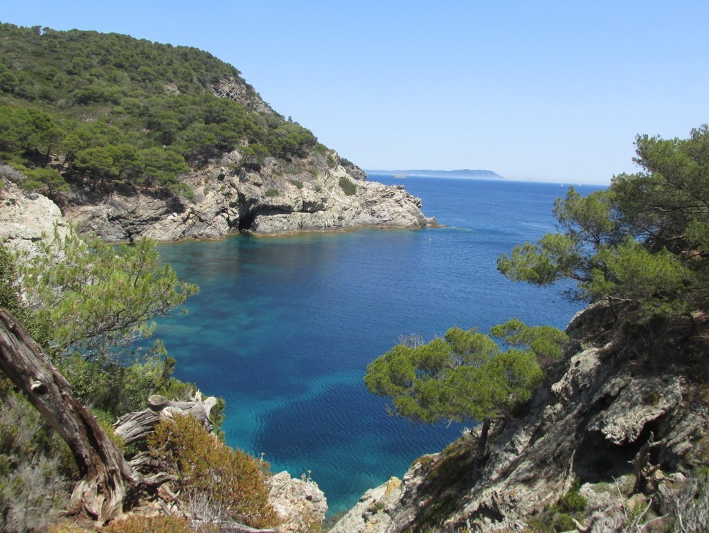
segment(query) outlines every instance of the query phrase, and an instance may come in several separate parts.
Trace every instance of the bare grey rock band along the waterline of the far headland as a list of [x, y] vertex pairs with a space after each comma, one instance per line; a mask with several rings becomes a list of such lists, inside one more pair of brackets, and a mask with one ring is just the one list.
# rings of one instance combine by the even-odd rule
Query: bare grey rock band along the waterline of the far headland
[[[238, 151], [220, 164], [184, 176], [191, 199], [139, 191], [105, 196], [74, 192], [65, 197], [65, 215], [82, 232], [109, 242], [150, 237], [162, 242], [222, 237], [240, 230], [257, 235], [350, 228], [423, 228], [435, 220], [421, 212], [419, 198], [403, 186], [352, 179], [345, 167], [300, 162], [284, 173], [269, 158], [250, 172]], [[342, 184], [352, 186], [345, 193]]]

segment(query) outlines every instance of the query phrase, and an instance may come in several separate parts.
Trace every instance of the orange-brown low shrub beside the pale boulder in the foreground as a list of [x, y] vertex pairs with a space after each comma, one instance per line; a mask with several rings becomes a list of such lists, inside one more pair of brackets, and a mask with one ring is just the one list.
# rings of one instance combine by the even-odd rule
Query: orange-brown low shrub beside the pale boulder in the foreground
[[179, 478], [189, 500], [208, 498], [216, 515], [251, 527], [277, 524], [268, 500], [268, 463], [226, 446], [193, 417], [177, 415], [160, 422], [148, 447]]

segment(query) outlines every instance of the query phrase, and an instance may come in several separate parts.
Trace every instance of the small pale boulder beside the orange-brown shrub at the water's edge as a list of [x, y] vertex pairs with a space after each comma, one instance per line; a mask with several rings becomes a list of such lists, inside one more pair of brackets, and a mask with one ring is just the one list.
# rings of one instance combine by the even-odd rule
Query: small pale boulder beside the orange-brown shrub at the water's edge
[[269, 501], [281, 518], [280, 532], [318, 531], [328, 502], [315, 482], [280, 472], [272, 476], [269, 486]]

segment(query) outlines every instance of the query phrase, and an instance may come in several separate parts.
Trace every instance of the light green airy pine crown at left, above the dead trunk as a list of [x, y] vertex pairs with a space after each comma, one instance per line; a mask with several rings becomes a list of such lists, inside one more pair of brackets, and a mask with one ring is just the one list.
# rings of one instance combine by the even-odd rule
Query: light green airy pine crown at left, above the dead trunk
[[155, 242], [113, 247], [70, 232], [38, 242], [19, 274], [30, 308], [54, 327], [52, 344], [101, 360], [150, 337], [153, 318], [167, 315], [198, 288], [160, 264]]

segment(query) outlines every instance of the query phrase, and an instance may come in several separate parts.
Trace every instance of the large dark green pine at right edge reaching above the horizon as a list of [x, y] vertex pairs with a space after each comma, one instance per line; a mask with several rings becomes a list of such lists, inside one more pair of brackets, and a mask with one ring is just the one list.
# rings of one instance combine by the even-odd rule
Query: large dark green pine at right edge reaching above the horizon
[[554, 206], [560, 232], [498, 258], [513, 281], [576, 281], [566, 293], [671, 318], [709, 300], [709, 128], [688, 139], [636, 139], [637, 174], [613, 177], [582, 197], [571, 187]]

